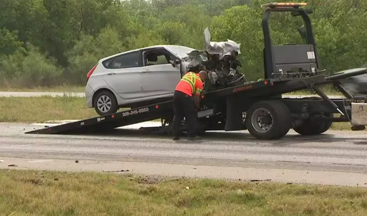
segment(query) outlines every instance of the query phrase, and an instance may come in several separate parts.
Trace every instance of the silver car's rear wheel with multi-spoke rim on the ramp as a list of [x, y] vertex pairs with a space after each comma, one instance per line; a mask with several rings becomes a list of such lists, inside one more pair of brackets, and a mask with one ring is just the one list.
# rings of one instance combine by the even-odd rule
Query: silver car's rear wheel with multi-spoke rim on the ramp
[[108, 91], [99, 92], [96, 95], [93, 104], [96, 112], [100, 116], [113, 114], [118, 110], [115, 95]]

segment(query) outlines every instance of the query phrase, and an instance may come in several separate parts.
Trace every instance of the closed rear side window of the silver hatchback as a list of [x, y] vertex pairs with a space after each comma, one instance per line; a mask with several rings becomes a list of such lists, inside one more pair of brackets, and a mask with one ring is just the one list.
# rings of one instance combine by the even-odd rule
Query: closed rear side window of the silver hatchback
[[110, 68], [119, 69], [140, 66], [142, 66], [141, 55], [140, 52], [137, 51], [115, 57]]

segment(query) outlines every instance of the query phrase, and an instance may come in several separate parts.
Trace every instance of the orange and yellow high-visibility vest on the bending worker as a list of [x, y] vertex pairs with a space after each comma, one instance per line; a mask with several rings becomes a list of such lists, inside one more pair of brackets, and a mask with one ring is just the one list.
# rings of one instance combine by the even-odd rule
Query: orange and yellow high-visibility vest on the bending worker
[[200, 95], [201, 91], [203, 91], [203, 85], [204, 84], [199, 75], [193, 72], [188, 72], [178, 82], [175, 90], [183, 92], [189, 96], [192, 96], [193, 94]]

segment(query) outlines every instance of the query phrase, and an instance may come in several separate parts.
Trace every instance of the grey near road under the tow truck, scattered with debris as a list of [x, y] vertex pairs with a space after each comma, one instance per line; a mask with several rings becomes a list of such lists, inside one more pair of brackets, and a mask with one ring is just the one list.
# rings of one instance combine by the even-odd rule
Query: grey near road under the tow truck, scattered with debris
[[[0, 168], [367, 186], [367, 133], [260, 141], [210, 132], [201, 141], [117, 129], [104, 135], [30, 135], [40, 125], [0, 123]], [[76, 163], [76, 160], [78, 160]], [[17, 167], [9, 167], [15, 164]], [[123, 172], [125, 173], [125, 172]]]

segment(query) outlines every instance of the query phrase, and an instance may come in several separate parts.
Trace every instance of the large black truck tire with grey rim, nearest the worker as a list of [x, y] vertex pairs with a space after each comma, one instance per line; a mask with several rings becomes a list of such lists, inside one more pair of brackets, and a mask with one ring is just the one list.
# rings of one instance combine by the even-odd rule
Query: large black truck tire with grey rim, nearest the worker
[[288, 107], [279, 100], [259, 101], [253, 104], [246, 115], [246, 127], [250, 134], [262, 140], [280, 139], [291, 128]]

